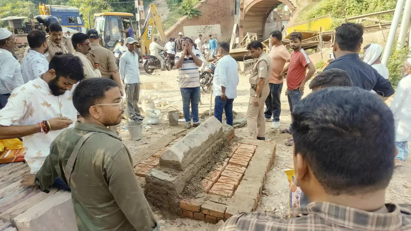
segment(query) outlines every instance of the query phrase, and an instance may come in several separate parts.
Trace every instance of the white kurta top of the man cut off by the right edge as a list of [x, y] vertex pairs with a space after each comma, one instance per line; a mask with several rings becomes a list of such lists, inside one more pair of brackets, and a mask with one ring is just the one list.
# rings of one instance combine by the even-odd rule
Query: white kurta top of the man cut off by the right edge
[[399, 81], [390, 109], [397, 131], [395, 141], [411, 141], [411, 74]]

